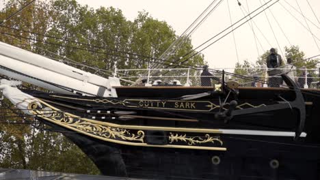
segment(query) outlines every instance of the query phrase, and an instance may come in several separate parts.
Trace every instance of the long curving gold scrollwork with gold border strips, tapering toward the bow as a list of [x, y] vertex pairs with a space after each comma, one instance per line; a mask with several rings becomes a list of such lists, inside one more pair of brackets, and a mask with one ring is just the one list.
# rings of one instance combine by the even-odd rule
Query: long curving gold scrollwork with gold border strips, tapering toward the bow
[[[155, 127], [144, 125], [119, 125], [103, 121], [95, 121], [63, 112], [42, 100], [39, 100], [44, 108], [30, 110], [34, 115], [51, 123], [68, 128], [74, 132], [85, 134], [92, 138], [114, 142], [120, 145], [131, 145], [137, 147], [163, 147], [177, 149], [202, 149], [209, 151], [226, 151], [226, 147], [192, 146], [192, 145], [149, 145], [144, 142], [144, 130], [165, 130], [172, 132], [198, 132], [198, 133], [222, 133], [212, 129], [189, 129], [177, 127]], [[50, 112], [50, 113], [48, 113]], [[92, 132], [94, 131], [94, 132]], [[100, 131], [100, 132], [99, 132]], [[134, 131], [131, 132], [131, 131]], [[100, 134], [104, 134], [101, 136]], [[106, 138], [107, 137], [107, 138]]]

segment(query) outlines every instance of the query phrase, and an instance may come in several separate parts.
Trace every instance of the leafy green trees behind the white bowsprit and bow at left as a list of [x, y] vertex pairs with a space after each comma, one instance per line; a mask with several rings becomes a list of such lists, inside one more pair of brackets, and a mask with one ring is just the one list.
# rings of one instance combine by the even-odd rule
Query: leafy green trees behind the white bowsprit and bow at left
[[[0, 11], [0, 19], [10, 16], [29, 1], [3, 1], [5, 7]], [[131, 22], [126, 20], [121, 10], [114, 7], [100, 7], [93, 10], [87, 5], [79, 5], [75, 0], [36, 1], [8, 20], [4, 26], [25, 31], [0, 27], [1, 42], [57, 59], [65, 56], [89, 67], [98, 67], [103, 70], [112, 70], [115, 66], [118, 69], [146, 68], [150, 60], [147, 57], [158, 58], [178, 37], [172, 27], [164, 21], [152, 18], [147, 12], [139, 12], [137, 18]], [[3, 35], [4, 32], [21, 37]], [[169, 61], [182, 61], [179, 57], [193, 48], [189, 37], [185, 38], [184, 44], [176, 50]], [[130, 54], [123, 52], [130, 52]], [[203, 63], [203, 55], [196, 55], [185, 64], [202, 65]], [[107, 76], [100, 71], [72, 65], [88, 72]], [[31, 87], [31, 85], [28, 86]], [[2, 101], [1, 104], [3, 105], [1, 107], [10, 106], [7, 100]], [[1, 110], [1, 117], [5, 115], [16, 116], [11, 110]], [[29, 120], [33, 121], [33, 119]], [[11, 121], [24, 122], [25, 120], [10, 117], [5, 122]], [[38, 131], [31, 125], [25, 124], [1, 124], [0, 130], [0, 167], [2, 168], [98, 174], [91, 160], [61, 134]]]

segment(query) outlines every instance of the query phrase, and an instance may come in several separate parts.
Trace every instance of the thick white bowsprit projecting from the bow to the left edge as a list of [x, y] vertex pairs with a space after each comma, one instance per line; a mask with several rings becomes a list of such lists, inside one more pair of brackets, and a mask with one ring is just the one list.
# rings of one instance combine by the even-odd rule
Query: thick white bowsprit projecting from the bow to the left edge
[[57, 93], [116, 97], [118, 78], [103, 78], [70, 65], [0, 42], [0, 74]]

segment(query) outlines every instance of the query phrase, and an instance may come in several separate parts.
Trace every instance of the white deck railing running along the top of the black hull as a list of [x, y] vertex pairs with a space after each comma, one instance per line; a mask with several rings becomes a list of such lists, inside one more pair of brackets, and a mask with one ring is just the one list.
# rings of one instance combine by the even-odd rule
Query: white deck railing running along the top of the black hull
[[[146, 86], [157, 85], [157, 82], [161, 82], [160, 85], [183, 85], [183, 86], [201, 86], [201, 78], [204, 77], [215, 77], [222, 78], [221, 73], [217, 73], [214, 70], [226, 72], [225, 80], [237, 80], [243, 87], [274, 87], [272, 82], [269, 80], [267, 74], [267, 68], [215, 68], [209, 70], [213, 76], [201, 76], [202, 69], [191, 69], [191, 68], [174, 68], [174, 69], [130, 69], [130, 70], [115, 70], [114, 76], [124, 80], [127, 85], [135, 84], [142, 85], [137, 80], [145, 79]], [[235, 73], [236, 70], [242, 70], [245, 75], [244, 78], [237, 78], [228, 73]], [[270, 69], [269, 69], [270, 70]], [[291, 71], [290, 68], [278, 68], [281, 72]], [[242, 72], [242, 73], [243, 73]], [[302, 88], [319, 88], [320, 78], [318, 69], [297, 69], [295, 70], [294, 77], [295, 82]], [[310, 74], [310, 75], [306, 75]], [[278, 76], [274, 76], [280, 78]], [[129, 84], [128, 84], [129, 83]], [[212, 83], [217, 83], [212, 81]], [[207, 85], [210, 86], [210, 85]]]

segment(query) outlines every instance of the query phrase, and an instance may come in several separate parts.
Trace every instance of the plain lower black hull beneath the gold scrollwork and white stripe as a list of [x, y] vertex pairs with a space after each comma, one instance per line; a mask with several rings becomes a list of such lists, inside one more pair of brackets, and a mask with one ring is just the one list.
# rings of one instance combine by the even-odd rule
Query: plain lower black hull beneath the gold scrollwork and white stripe
[[320, 147], [293, 138], [224, 137], [228, 151], [130, 147], [52, 123], [103, 175], [142, 179], [320, 179]]

